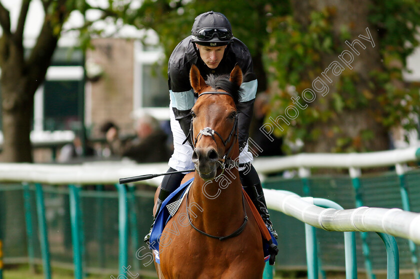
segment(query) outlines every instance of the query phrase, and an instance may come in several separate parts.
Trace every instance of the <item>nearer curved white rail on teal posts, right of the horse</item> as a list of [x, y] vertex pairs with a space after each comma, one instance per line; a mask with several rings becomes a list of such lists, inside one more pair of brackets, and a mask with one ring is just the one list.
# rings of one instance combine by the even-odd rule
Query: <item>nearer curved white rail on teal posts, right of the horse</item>
[[[266, 190], [265, 192], [269, 207], [305, 223], [306, 262], [310, 279], [318, 278], [318, 265], [321, 265], [317, 248], [318, 242], [315, 241], [315, 230], [310, 225], [329, 231], [344, 231], [346, 278], [357, 277], [354, 234], [348, 235], [351, 231], [375, 231], [379, 235], [386, 249], [387, 278], [398, 278], [400, 272], [398, 246], [392, 235], [412, 239], [417, 244], [420, 243], [420, 214], [418, 213], [398, 208], [366, 206], [344, 210], [338, 204], [327, 199], [301, 198], [295, 193], [284, 190]], [[327, 209], [322, 209], [314, 204]], [[329, 252], [328, 250], [327, 253]], [[324, 277], [325, 273], [321, 273]]]

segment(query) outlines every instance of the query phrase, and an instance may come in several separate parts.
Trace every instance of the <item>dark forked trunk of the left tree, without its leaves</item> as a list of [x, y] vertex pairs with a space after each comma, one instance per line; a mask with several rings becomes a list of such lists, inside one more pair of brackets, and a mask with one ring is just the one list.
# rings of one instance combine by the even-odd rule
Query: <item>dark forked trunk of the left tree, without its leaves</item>
[[[26, 2], [27, 4], [28, 2]], [[64, 20], [65, 2], [59, 5], [57, 18]], [[4, 17], [4, 14], [1, 14]], [[7, 17], [6, 17], [7, 18]], [[0, 16], [1, 19], [1, 16]], [[4, 31], [0, 38], [1, 113], [4, 162], [32, 162], [30, 130], [33, 116], [33, 96], [44, 81], [46, 70], [57, 46], [62, 22], [53, 25], [55, 17], [46, 16], [35, 45], [24, 57], [23, 25], [16, 33]], [[5, 20], [5, 18], [2, 18]], [[24, 22], [19, 21], [20, 23]]]

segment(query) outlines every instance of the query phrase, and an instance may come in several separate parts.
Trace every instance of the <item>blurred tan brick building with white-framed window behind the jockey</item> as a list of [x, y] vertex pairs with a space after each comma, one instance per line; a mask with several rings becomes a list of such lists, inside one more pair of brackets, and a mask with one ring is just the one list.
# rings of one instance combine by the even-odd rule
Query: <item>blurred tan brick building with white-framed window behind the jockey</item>
[[143, 112], [169, 119], [167, 77], [157, 36], [148, 45], [125, 38], [98, 38], [92, 44], [95, 49], [86, 52], [86, 65], [101, 69], [100, 76], [85, 83], [84, 122], [92, 135], [110, 119], [121, 133], [130, 131], [133, 118]]

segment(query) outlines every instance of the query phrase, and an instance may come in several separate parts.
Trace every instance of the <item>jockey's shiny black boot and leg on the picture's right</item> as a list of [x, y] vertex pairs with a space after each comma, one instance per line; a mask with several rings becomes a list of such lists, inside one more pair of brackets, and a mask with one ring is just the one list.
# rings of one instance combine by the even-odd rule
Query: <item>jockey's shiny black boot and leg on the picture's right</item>
[[278, 235], [272, 227], [270, 214], [268, 213], [267, 204], [265, 203], [264, 192], [262, 191], [261, 182], [259, 181], [258, 173], [255, 168], [250, 165], [250, 169], [245, 168], [245, 170], [239, 171], [239, 178], [242, 182], [242, 187], [251, 198], [252, 203], [258, 210], [258, 213], [261, 215], [265, 226], [269, 229], [272, 235], [277, 238]]

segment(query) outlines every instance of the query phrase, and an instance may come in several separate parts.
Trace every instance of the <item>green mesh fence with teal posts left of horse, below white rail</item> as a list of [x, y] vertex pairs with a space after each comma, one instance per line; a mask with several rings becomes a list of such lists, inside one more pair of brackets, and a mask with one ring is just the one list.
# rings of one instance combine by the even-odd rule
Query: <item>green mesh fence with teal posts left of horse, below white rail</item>
[[[27, 262], [32, 270], [34, 265], [42, 266], [45, 278], [53, 278], [51, 264], [73, 269], [75, 278], [87, 273], [117, 277], [129, 265], [132, 270], [138, 267], [134, 274], [153, 276], [153, 264], [139, 259], [147, 251], [137, 253], [145, 244], [133, 239], [148, 231], [153, 193], [103, 187], [3, 183], [0, 195], [7, 200], [2, 207], [14, 203], [14, 208], [20, 208], [9, 207], [2, 215], [6, 218], [5, 226], [0, 226], [5, 232], [6, 263]], [[13, 221], [19, 215], [24, 216], [23, 223]]]

